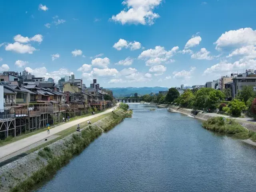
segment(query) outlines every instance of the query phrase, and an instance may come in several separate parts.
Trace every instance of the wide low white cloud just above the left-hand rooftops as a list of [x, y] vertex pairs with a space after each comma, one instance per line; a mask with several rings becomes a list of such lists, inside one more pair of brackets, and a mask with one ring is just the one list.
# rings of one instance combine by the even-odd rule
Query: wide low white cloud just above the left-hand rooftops
[[65, 69], [65, 68], [60, 68], [58, 71], [53, 71], [53, 72], [47, 72], [47, 69], [45, 67], [34, 68], [34, 69], [30, 67], [26, 67], [25, 70], [37, 77], [45, 77], [46, 79], [53, 78], [55, 82], [60, 80], [60, 78], [65, 75], [73, 74], [72, 72], [70, 72], [68, 69]]

